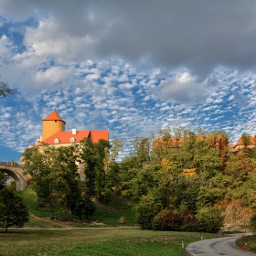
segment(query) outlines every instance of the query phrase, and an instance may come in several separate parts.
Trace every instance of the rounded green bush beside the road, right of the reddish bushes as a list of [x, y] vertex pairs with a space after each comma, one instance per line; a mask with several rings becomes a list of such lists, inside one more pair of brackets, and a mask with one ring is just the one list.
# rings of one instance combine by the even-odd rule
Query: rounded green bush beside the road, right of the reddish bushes
[[198, 230], [217, 233], [224, 224], [224, 217], [219, 208], [201, 208], [197, 214]]

